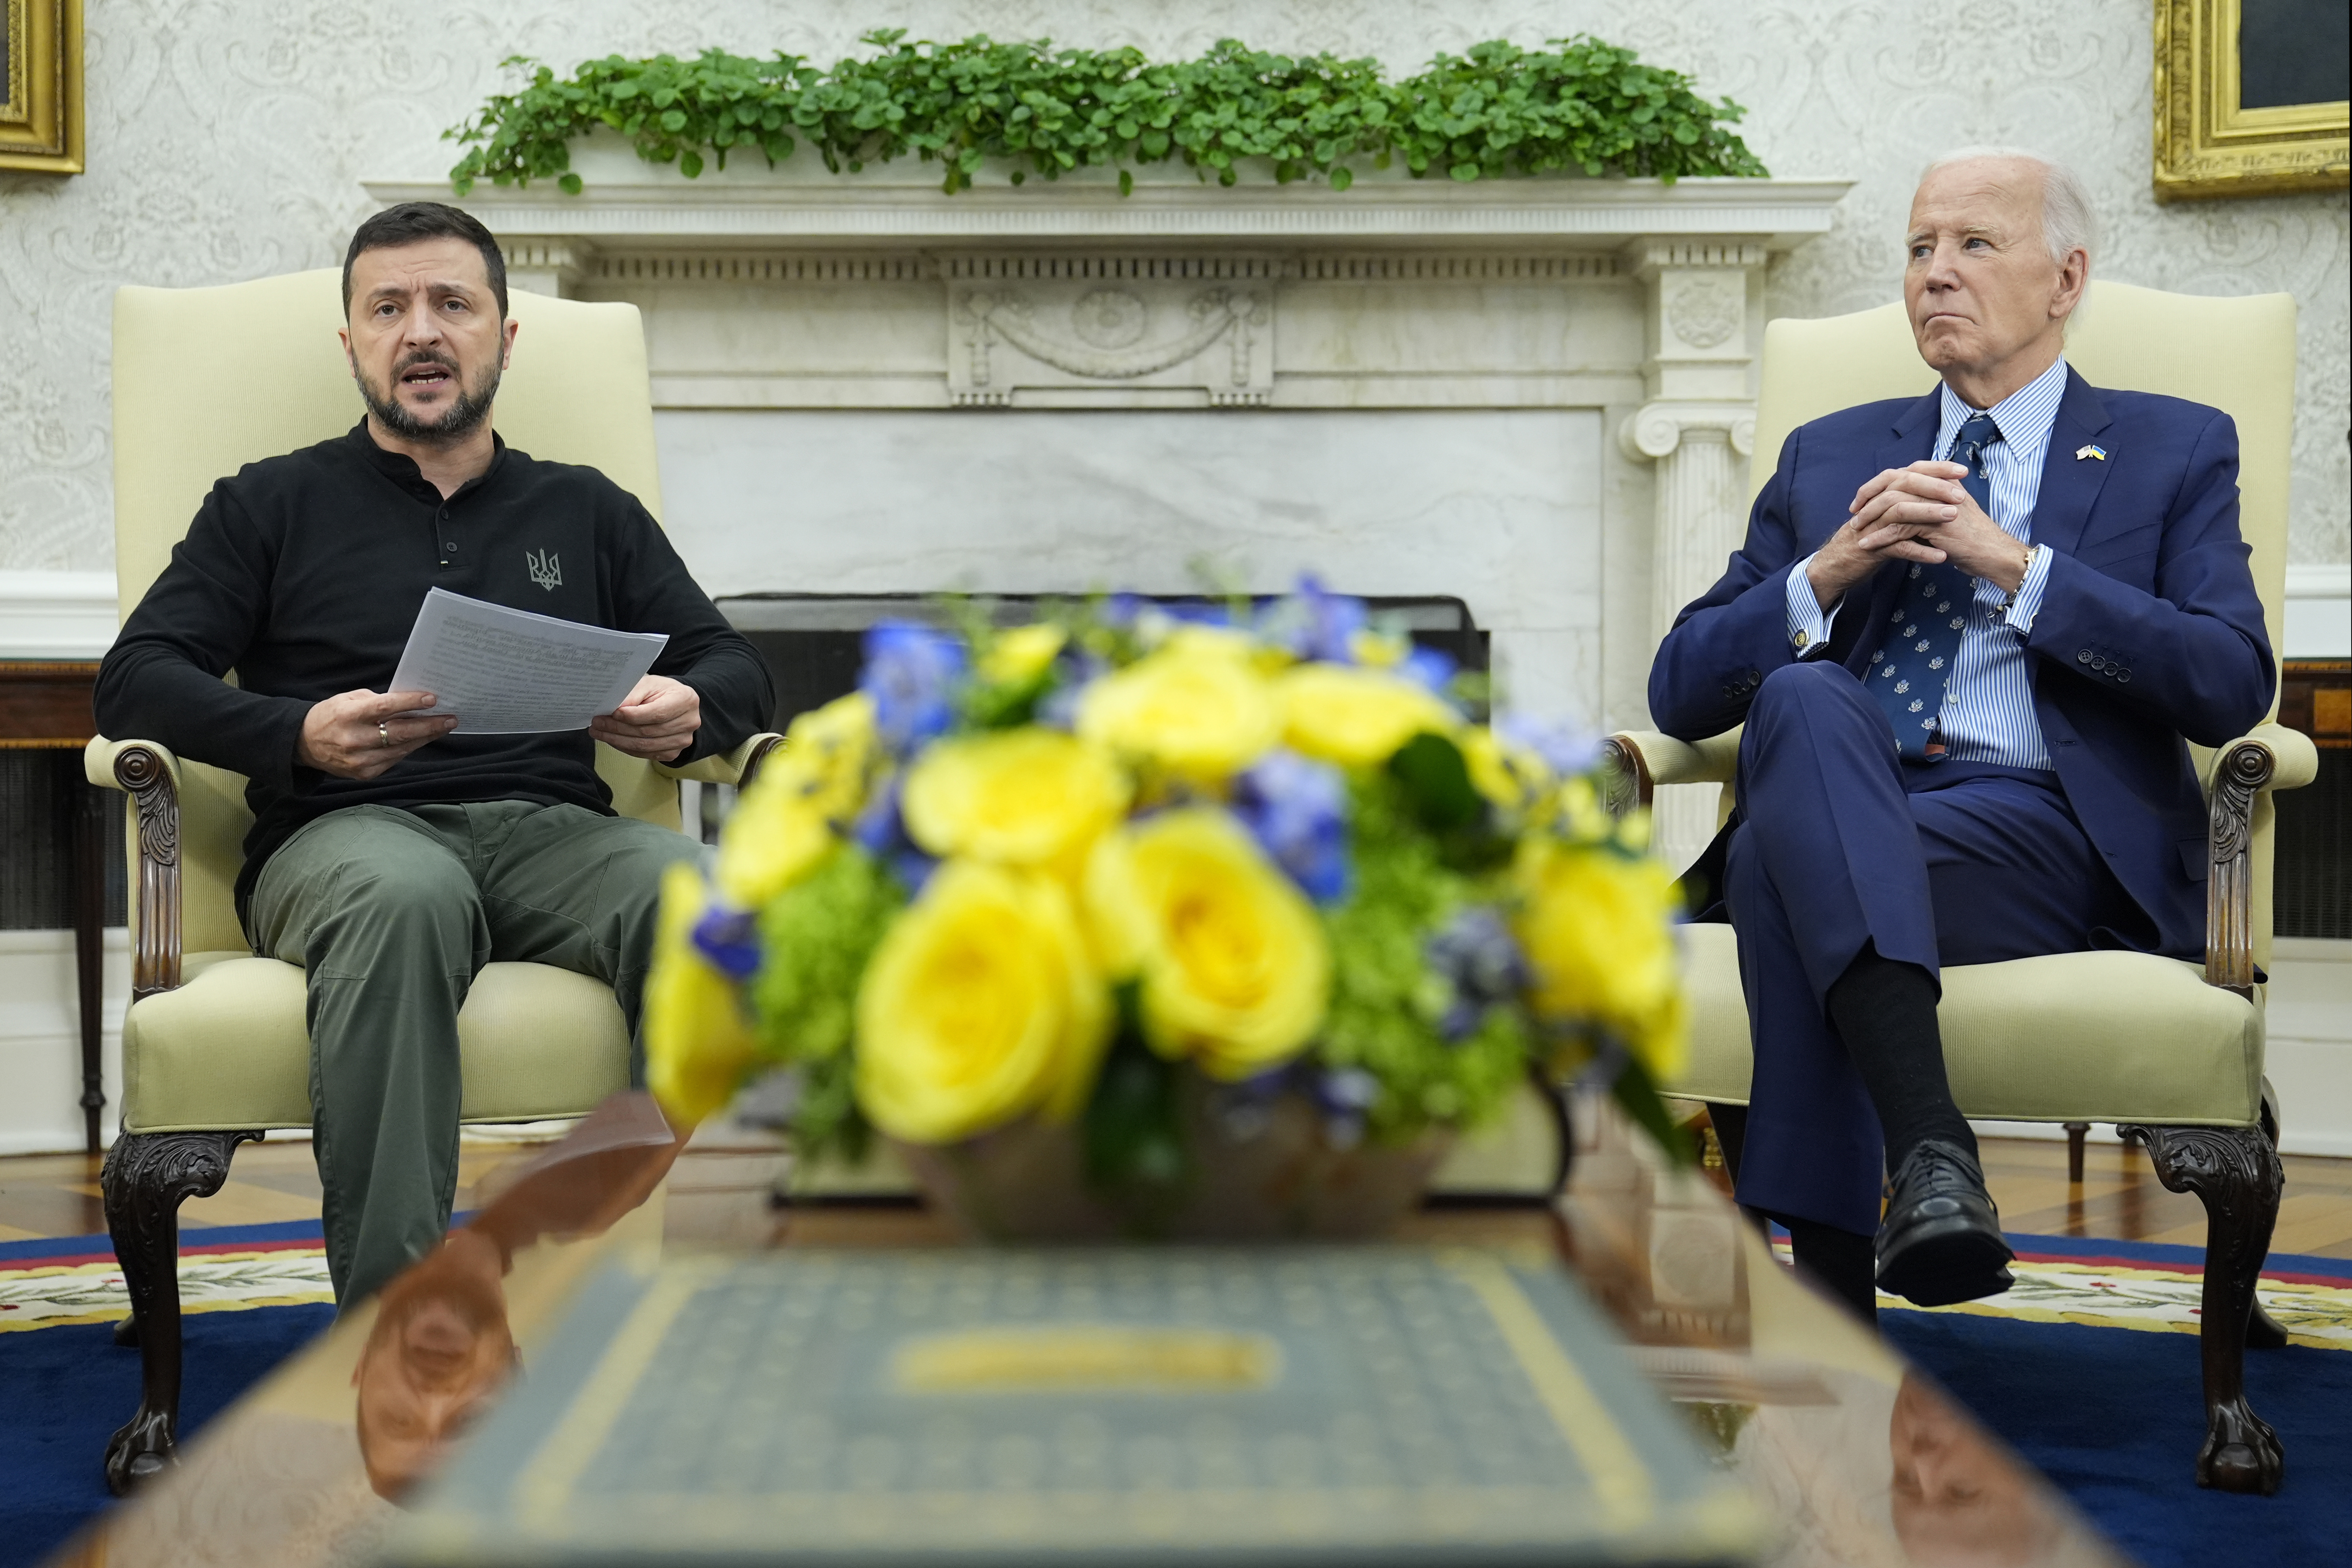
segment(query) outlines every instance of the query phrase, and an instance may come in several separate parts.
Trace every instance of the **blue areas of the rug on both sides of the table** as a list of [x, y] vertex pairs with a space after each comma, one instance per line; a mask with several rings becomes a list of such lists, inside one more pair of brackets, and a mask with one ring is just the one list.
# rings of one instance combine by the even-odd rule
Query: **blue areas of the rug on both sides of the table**
[[[318, 1246], [318, 1222], [193, 1229], [188, 1260], [238, 1248]], [[2194, 1272], [2201, 1248], [2013, 1237], [2020, 1255]], [[106, 1237], [0, 1244], [0, 1272], [108, 1260]], [[2343, 1258], [2270, 1258], [2270, 1274], [2352, 1284]], [[2265, 1286], [2265, 1295], [2270, 1288]], [[2053, 1298], [2056, 1300], [2056, 1298]], [[2063, 1302], [2060, 1302], [2063, 1305]], [[181, 1436], [202, 1429], [278, 1361], [334, 1321], [334, 1307], [191, 1312]], [[1886, 1338], [2070, 1493], [2147, 1568], [2300, 1568], [2352, 1554], [2352, 1352], [2251, 1352], [2253, 1408], [2286, 1443], [2277, 1497], [2230, 1497], [2192, 1479], [2204, 1441], [2197, 1338], [1882, 1309]], [[111, 1324], [0, 1333], [0, 1568], [42, 1561], [106, 1507], [106, 1436], [139, 1406], [139, 1352]]]

